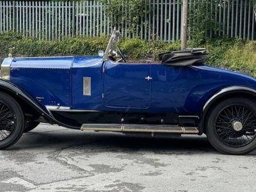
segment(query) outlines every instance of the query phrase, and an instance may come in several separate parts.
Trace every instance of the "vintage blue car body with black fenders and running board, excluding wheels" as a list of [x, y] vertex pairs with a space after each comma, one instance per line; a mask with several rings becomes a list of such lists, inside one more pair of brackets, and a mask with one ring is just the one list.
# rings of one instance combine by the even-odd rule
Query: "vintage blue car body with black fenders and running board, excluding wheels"
[[[113, 49], [108, 46], [107, 53]], [[202, 134], [207, 116], [221, 100], [256, 99], [256, 79], [238, 72], [203, 63], [124, 61], [108, 59], [106, 53], [6, 58], [0, 92], [19, 102], [26, 122], [152, 136]]]

